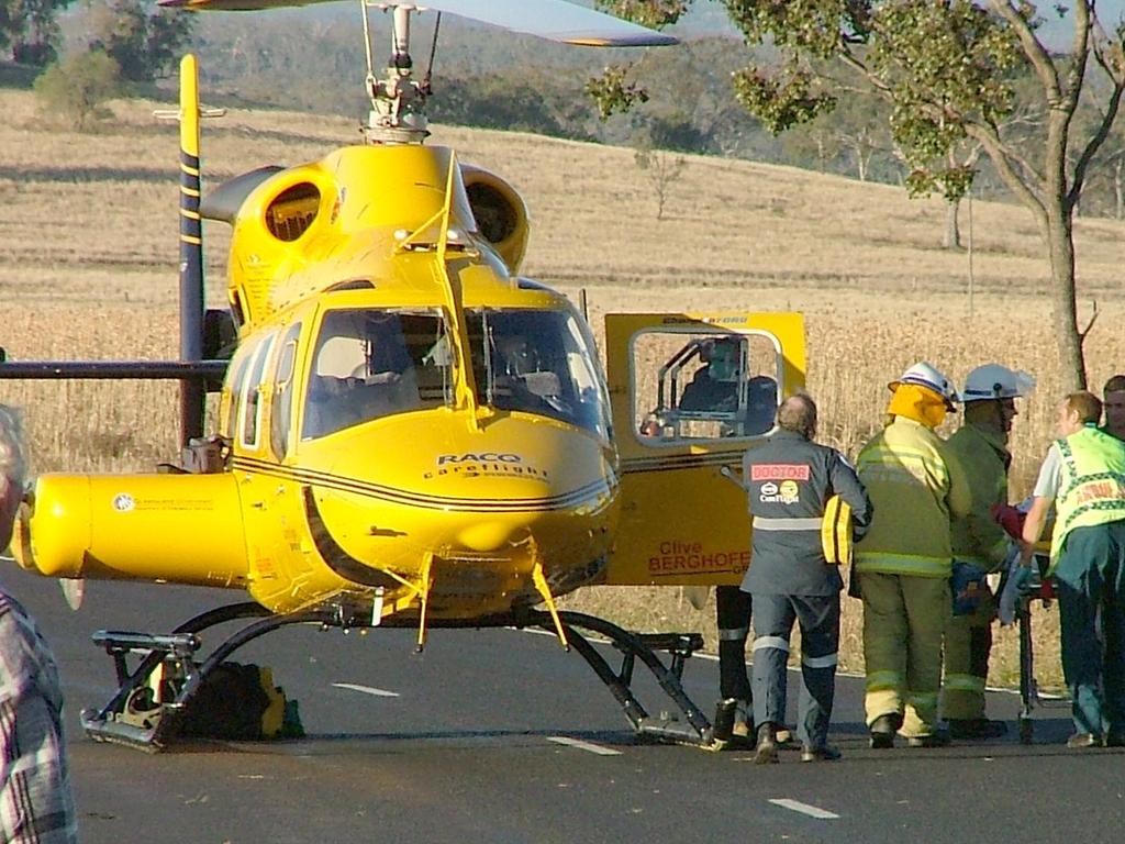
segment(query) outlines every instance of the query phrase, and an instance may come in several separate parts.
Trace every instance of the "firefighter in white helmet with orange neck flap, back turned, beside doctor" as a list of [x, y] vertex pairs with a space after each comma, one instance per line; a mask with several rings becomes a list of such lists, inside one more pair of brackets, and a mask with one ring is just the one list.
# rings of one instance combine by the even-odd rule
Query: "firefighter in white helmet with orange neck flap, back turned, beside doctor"
[[942, 637], [951, 616], [950, 522], [969, 512], [964, 473], [935, 432], [960, 401], [929, 363], [898, 380], [883, 430], [863, 447], [856, 468], [874, 519], [855, 548], [863, 598], [866, 710], [872, 747], [892, 747], [901, 731], [912, 747], [948, 743], [938, 729]]

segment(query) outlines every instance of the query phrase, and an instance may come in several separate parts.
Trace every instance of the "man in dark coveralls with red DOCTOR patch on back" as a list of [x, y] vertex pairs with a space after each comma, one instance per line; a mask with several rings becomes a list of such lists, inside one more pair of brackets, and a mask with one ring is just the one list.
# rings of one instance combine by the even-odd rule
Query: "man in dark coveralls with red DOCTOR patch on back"
[[853, 538], [871, 523], [871, 501], [860, 478], [832, 448], [812, 441], [817, 405], [808, 395], [777, 408], [777, 433], [749, 449], [744, 483], [753, 517], [750, 567], [742, 591], [754, 600], [754, 761], [777, 761], [777, 729], [785, 717], [785, 664], [796, 621], [801, 628], [801, 700], [796, 719], [802, 762], [839, 758], [828, 744], [839, 646], [839, 566], [825, 556], [821, 526], [829, 499], [852, 509]]

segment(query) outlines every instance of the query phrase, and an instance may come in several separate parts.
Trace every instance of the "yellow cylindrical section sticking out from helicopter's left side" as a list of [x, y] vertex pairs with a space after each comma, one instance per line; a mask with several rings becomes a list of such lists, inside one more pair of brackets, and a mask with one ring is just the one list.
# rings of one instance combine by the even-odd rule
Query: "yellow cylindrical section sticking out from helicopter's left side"
[[245, 586], [249, 573], [231, 474], [43, 475], [12, 550], [48, 577]]

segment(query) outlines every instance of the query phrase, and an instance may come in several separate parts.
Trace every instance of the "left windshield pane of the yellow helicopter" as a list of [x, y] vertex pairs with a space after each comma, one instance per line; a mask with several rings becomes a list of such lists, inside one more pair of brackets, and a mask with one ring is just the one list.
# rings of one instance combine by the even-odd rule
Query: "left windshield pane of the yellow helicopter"
[[452, 376], [438, 313], [330, 311], [313, 349], [302, 437], [448, 404]]

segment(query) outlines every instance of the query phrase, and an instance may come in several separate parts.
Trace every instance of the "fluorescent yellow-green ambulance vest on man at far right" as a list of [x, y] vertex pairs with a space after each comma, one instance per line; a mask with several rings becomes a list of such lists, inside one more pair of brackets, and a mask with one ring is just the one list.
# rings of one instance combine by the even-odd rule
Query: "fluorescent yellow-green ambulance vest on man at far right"
[[1054, 446], [1062, 455], [1062, 483], [1055, 497], [1052, 560], [1074, 528], [1125, 519], [1125, 443], [1091, 427]]

